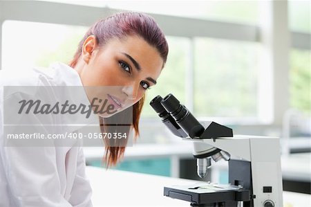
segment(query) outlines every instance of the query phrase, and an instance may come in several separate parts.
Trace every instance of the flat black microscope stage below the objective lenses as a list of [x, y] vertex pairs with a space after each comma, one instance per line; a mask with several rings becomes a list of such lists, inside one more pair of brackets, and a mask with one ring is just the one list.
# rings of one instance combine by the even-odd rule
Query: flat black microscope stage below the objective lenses
[[238, 186], [196, 183], [191, 186], [164, 187], [164, 195], [194, 204], [212, 204], [224, 201], [249, 201], [250, 192]]

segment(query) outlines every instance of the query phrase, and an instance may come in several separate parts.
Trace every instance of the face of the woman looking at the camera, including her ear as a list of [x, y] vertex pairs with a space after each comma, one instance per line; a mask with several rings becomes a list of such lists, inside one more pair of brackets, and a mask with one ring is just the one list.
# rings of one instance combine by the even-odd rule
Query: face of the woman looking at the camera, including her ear
[[75, 69], [89, 89], [90, 101], [99, 98], [99, 105], [111, 105], [108, 114], [99, 114], [109, 117], [138, 102], [156, 84], [162, 65], [157, 49], [138, 36], [110, 39], [99, 47], [91, 35], [84, 42], [82, 60]]

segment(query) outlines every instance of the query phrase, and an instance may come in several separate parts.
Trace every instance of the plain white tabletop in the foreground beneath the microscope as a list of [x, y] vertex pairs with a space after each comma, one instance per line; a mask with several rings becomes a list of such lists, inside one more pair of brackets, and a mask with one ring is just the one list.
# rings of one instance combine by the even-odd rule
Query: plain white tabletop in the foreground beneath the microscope
[[[187, 179], [161, 177], [136, 172], [106, 170], [87, 166], [93, 188], [93, 205], [100, 206], [190, 206], [187, 201], [164, 197], [163, 187], [198, 183]], [[284, 207], [311, 206], [311, 196], [283, 192]]]

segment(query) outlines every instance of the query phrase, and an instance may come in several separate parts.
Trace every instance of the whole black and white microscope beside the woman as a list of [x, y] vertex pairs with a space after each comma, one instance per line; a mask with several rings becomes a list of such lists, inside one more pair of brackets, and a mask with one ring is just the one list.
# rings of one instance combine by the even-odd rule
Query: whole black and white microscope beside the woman
[[189, 201], [195, 207], [282, 207], [283, 186], [279, 138], [233, 135], [213, 121], [203, 127], [172, 94], [150, 102], [170, 131], [194, 145], [198, 176], [215, 162], [228, 161], [227, 184], [165, 186], [164, 196]]

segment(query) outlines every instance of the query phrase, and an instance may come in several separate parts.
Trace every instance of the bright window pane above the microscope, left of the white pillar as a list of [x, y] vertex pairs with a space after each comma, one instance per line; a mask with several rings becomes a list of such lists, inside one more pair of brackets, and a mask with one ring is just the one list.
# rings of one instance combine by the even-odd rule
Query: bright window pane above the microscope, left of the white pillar
[[196, 38], [195, 114], [256, 117], [257, 57], [256, 43]]

